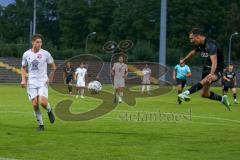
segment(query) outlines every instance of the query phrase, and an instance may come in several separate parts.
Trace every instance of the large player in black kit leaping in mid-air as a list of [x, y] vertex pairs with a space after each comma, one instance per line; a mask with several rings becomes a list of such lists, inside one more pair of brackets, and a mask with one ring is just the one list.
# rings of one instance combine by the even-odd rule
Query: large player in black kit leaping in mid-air
[[227, 95], [220, 96], [210, 91], [211, 84], [222, 77], [224, 68], [223, 53], [218, 43], [204, 36], [198, 28], [194, 28], [189, 32], [189, 40], [195, 45], [195, 48], [181, 60], [181, 63], [185, 63], [195, 55], [200, 55], [203, 63], [202, 80], [179, 94], [178, 98], [182, 101], [190, 101], [189, 95], [201, 90], [203, 98], [220, 101], [230, 110]]

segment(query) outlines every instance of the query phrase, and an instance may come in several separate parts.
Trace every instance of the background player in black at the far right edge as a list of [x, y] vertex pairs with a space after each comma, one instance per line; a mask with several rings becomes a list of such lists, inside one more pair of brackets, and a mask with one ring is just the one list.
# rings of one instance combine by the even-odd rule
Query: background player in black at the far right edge
[[229, 64], [227, 69], [223, 72], [223, 93], [226, 94], [228, 92], [228, 89], [232, 89], [234, 103], [238, 104], [236, 86], [236, 73], [233, 70], [233, 65]]

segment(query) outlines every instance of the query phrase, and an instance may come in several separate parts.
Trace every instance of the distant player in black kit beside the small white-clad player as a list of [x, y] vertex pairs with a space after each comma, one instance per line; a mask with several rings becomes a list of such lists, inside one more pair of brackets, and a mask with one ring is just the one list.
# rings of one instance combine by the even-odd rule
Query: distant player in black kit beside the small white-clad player
[[74, 68], [71, 66], [70, 62], [67, 62], [66, 67], [63, 70], [63, 80], [68, 86], [69, 95], [72, 95], [72, 81], [74, 76]]

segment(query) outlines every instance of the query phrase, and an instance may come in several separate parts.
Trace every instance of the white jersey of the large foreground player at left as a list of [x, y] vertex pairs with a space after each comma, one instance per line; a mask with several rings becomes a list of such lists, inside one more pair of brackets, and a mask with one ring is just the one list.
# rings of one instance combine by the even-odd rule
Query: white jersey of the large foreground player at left
[[22, 57], [22, 66], [28, 66], [28, 85], [42, 87], [48, 80], [47, 64], [53, 63], [51, 54], [40, 49], [37, 53], [26, 51]]

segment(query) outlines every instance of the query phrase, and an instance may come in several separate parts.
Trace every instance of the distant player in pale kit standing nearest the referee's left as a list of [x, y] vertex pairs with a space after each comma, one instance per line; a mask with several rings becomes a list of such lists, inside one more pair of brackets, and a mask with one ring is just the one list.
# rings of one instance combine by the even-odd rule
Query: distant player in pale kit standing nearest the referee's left
[[147, 88], [147, 93], [150, 94], [151, 73], [151, 69], [149, 68], [148, 64], [146, 64], [142, 70], [142, 94], [144, 93], [145, 88]]

